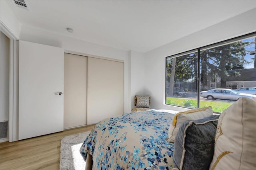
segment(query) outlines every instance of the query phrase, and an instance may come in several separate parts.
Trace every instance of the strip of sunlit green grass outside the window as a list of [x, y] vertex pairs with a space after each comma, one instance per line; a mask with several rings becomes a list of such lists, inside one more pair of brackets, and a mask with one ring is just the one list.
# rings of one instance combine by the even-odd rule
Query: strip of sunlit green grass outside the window
[[[184, 99], [184, 98], [166, 98], [166, 104], [185, 106], [185, 107], [197, 107], [197, 100], [195, 99]], [[222, 113], [226, 108], [228, 108], [233, 103], [223, 102], [221, 100], [200, 100], [200, 107], [212, 106], [212, 110]]]

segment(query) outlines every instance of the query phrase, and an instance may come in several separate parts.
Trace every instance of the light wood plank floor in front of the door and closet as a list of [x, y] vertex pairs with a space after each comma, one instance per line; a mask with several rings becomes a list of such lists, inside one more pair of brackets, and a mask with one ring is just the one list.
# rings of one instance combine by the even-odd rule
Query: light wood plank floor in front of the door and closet
[[58, 170], [62, 137], [92, 130], [94, 125], [50, 135], [0, 143], [0, 170]]

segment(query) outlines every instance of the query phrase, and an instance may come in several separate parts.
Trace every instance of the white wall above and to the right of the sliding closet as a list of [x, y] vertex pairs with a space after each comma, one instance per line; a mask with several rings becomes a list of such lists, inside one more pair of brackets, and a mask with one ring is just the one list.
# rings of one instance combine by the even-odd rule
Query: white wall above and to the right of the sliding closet
[[[68, 32], [67, 32], [68, 33]], [[128, 51], [106, 47], [95, 43], [65, 37], [55, 33], [50, 33], [41, 29], [22, 25], [20, 32], [20, 40], [29, 41], [33, 43], [40, 43], [44, 45], [51, 45], [61, 47], [64, 50], [84, 53], [89, 55], [96, 55], [101, 57], [108, 57], [124, 61], [124, 113], [130, 112], [130, 72], [129, 72], [129, 55]]]

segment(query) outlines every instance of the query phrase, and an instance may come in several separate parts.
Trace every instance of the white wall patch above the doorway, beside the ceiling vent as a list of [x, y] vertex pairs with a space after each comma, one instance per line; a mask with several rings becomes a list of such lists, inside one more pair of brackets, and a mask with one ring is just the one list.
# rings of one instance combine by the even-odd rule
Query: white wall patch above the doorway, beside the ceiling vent
[[7, 27], [16, 39], [18, 39], [20, 36], [21, 24], [8, 4], [3, 0], [0, 0], [0, 20], [1, 24]]

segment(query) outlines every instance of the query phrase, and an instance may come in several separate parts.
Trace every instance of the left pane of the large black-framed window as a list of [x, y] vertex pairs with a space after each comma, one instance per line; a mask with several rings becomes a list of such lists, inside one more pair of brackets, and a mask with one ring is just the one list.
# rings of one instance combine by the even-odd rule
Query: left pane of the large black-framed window
[[[197, 75], [198, 55], [196, 51], [188, 51], [185, 55], [166, 58], [166, 104], [197, 106]], [[193, 100], [188, 100], [189, 98]]]

